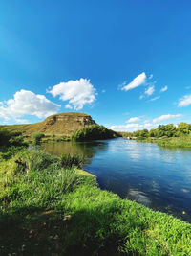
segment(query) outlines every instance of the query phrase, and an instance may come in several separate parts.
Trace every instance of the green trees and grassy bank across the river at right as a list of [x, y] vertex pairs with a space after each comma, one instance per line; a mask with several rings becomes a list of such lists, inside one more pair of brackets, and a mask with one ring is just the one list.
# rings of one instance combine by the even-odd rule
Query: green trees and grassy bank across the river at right
[[162, 147], [191, 148], [191, 124], [180, 123], [159, 125], [158, 128], [119, 132], [123, 137], [136, 139], [137, 142], [156, 143]]

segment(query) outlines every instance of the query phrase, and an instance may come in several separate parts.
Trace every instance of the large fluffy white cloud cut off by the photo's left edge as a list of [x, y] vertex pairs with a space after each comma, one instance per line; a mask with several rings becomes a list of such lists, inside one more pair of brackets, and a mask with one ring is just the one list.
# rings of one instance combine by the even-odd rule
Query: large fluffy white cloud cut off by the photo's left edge
[[[60, 105], [54, 104], [44, 95], [34, 94], [32, 91], [20, 90], [13, 95], [13, 99], [0, 103], [0, 118], [4, 120], [33, 115], [38, 118], [56, 113]], [[19, 119], [17, 119], [19, 123]]]

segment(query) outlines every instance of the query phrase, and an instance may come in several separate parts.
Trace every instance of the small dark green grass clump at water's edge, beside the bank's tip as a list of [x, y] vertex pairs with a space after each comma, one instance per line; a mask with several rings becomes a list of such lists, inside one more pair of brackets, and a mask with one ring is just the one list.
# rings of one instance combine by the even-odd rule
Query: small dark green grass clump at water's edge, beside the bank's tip
[[83, 166], [84, 159], [82, 156], [77, 154], [70, 154], [70, 153], [63, 153], [61, 155], [61, 166], [64, 168], [71, 169], [72, 167], [76, 166], [77, 168], [81, 168]]

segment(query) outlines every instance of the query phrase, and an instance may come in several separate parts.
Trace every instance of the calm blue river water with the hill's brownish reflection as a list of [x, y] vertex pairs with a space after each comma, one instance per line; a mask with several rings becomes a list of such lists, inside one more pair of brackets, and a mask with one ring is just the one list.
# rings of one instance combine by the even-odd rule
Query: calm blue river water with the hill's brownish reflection
[[123, 138], [43, 148], [56, 155], [79, 153], [86, 159], [84, 170], [97, 176], [100, 188], [191, 221], [191, 151]]

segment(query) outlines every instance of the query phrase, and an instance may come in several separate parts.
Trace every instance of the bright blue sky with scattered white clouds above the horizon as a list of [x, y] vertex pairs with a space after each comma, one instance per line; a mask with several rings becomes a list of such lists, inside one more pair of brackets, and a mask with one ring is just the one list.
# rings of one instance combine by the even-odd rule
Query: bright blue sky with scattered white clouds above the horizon
[[189, 0], [1, 1], [0, 124], [191, 123]]

